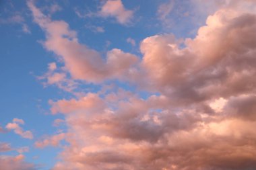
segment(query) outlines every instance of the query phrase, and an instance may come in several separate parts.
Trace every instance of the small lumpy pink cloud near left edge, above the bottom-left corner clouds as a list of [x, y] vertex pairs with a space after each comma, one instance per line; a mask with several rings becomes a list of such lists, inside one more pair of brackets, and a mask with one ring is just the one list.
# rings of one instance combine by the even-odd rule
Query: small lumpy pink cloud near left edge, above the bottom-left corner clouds
[[18, 118], [14, 118], [11, 123], [8, 123], [5, 126], [5, 128], [7, 128], [7, 130], [13, 130], [15, 132], [15, 134], [18, 134], [18, 135], [22, 136], [22, 138], [32, 139], [33, 138], [32, 132], [30, 132], [29, 130], [24, 131], [20, 127], [20, 124], [24, 124], [24, 120], [18, 119]]

